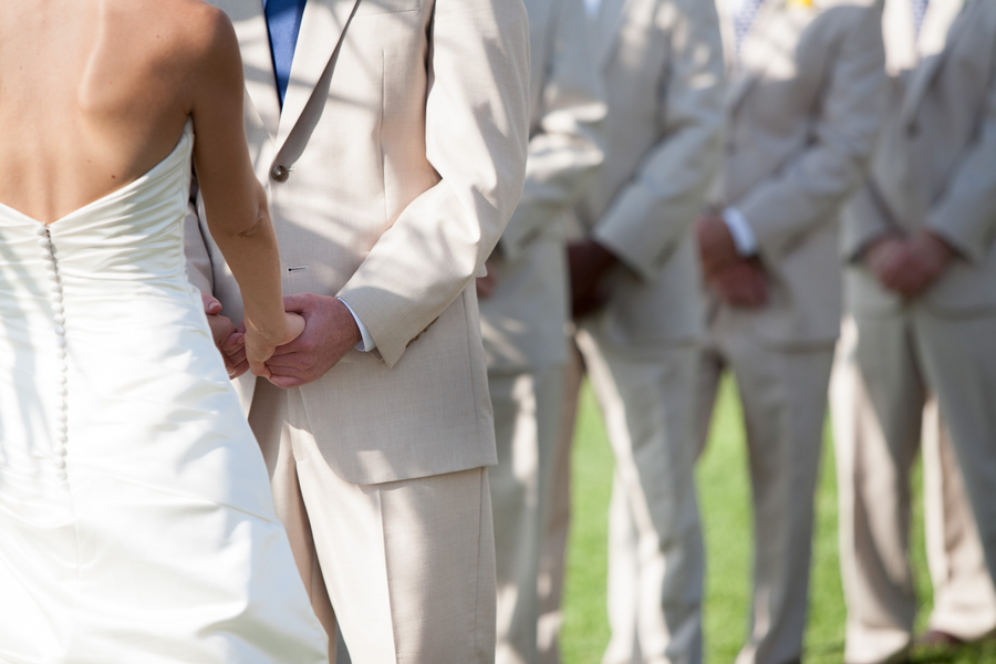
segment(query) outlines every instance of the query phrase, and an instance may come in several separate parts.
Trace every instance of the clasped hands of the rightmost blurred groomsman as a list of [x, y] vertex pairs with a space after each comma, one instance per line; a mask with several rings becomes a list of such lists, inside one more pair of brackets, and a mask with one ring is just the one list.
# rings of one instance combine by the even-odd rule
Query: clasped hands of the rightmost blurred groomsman
[[906, 299], [926, 291], [944, 273], [953, 256], [951, 246], [928, 230], [884, 236], [862, 253], [879, 282]]

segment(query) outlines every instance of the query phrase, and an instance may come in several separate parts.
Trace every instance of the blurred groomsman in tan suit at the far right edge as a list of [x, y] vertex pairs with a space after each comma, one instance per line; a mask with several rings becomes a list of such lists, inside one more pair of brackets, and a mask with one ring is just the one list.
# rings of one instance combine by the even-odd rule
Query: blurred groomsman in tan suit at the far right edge
[[853, 321], [833, 391], [855, 664], [911, 644], [910, 473], [925, 404], [927, 516], [944, 517], [927, 521], [941, 581], [931, 627], [971, 640], [996, 623], [981, 569], [996, 572], [996, 4], [888, 0], [885, 40], [886, 123], [843, 216]]

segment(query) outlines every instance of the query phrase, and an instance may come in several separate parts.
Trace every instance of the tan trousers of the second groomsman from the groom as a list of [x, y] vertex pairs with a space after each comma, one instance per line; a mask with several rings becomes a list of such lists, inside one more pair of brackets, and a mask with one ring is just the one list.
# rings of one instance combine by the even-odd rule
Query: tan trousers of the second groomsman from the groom
[[[575, 342], [615, 456], [609, 513], [612, 637], [602, 662], [697, 664], [704, 560], [694, 479], [696, 349], [620, 349], [583, 328]], [[575, 404], [580, 381], [569, 378], [568, 384], [566, 398]], [[564, 434], [572, 433], [572, 427], [564, 428]], [[554, 479], [550, 512], [554, 531], [546, 536], [540, 575], [546, 591], [540, 627], [544, 662], [557, 656], [552, 643], [563, 578], [563, 557], [557, 558], [557, 549], [562, 551], [566, 541], [566, 447], [558, 448], [554, 477], [560, 481]]]

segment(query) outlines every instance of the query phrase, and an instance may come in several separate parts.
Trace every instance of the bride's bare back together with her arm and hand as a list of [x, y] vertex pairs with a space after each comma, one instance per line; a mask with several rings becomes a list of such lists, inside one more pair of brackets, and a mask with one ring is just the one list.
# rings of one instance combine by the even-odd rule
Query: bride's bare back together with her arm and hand
[[145, 175], [190, 117], [211, 236], [242, 291], [252, 371], [304, 326], [249, 160], [242, 63], [200, 0], [0, 0], [0, 203], [51, 224]]

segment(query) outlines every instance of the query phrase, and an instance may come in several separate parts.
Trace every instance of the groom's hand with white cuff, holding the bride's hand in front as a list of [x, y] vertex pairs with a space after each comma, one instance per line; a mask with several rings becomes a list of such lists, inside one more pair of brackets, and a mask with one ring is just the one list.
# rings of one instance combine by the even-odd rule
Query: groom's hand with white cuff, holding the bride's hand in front
[[304, 332], [278, 347], [267, 361], [270, 382], [278, 387], [298, 387], [319, 380], [362, 341], [356, 321], [336, 298], [284, 295], [283, 308], [304, 319]]

